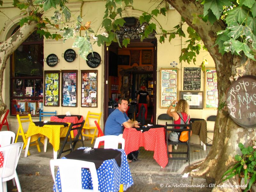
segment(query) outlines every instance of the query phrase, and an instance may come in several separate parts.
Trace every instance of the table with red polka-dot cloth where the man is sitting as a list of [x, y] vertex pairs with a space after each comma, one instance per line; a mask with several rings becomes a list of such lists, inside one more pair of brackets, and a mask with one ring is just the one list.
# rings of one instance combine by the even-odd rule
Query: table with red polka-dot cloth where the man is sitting
[[164, 125], [152, 125], [147, 128], [124, 128], [124, 150], [126, 154], [139, 150], [154, 151], [154, 159], [164, 168], [168, 164]]

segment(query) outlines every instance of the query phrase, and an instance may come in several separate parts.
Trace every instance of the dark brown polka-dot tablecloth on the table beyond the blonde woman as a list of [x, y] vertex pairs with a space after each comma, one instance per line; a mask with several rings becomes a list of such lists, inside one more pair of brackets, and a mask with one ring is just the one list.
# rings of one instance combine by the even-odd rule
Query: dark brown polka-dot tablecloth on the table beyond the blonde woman
[[192, 134], [198, 135], [200, 140], [206, 144], [207, 138], [207, 124], [206, 121], [196, 120], [192, 123]]

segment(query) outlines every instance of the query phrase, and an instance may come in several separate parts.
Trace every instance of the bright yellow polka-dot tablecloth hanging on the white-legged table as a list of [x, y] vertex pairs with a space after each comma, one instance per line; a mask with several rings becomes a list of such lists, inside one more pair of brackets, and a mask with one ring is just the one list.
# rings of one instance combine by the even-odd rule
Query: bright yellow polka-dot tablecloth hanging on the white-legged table
[[52, 144], [54, 151], [58, 151], [60, 149], [60, 137], [66, 137], [69, 125], [70, 123], [68, 123], [67, 127], [64, 127], [64, 125], [44, 125], [43, 127], [40, 127], [31, 122], [28, 125], [28, 132], [24, 145], [27, 145], [28, 137], [31, 137], [31, 143], [36, 141], [39, 137], [42, 137], [43, 139], [44, 136], [46, 136]]

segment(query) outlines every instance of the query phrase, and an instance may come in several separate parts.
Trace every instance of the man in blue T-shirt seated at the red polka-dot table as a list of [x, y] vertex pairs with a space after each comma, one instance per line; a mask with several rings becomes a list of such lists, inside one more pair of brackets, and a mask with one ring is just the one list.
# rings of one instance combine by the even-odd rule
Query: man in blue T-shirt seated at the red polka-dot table
[[132, 121], [126, 115], [128, 109], [128, 100], [120, 98], [118, 100], [118, 108], [115, 109], [109, 116], [105, 124], [105, 135], [120, 135], [125, 128], [140, 127], [138, 121]]

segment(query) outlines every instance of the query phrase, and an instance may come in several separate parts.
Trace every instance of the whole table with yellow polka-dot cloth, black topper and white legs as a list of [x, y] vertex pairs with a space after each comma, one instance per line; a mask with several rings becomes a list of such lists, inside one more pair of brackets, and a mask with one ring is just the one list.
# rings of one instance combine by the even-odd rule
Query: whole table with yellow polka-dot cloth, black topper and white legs
[[[66, 137], [69, 123], [61, 122], [30, 122], [28, 125], [27, 136], [24, 145], [26, 146], [25, 157], [28, 155], [29, 143], [36, 141], [39, 137], [44, 139], [44, 146], [46, 146], [47, 138], [53, 146], [53, 158], [57, 159], [57, 152], [60, 149], [60, 137]], [[46, 148], [44, 148], [46, 152]]]

